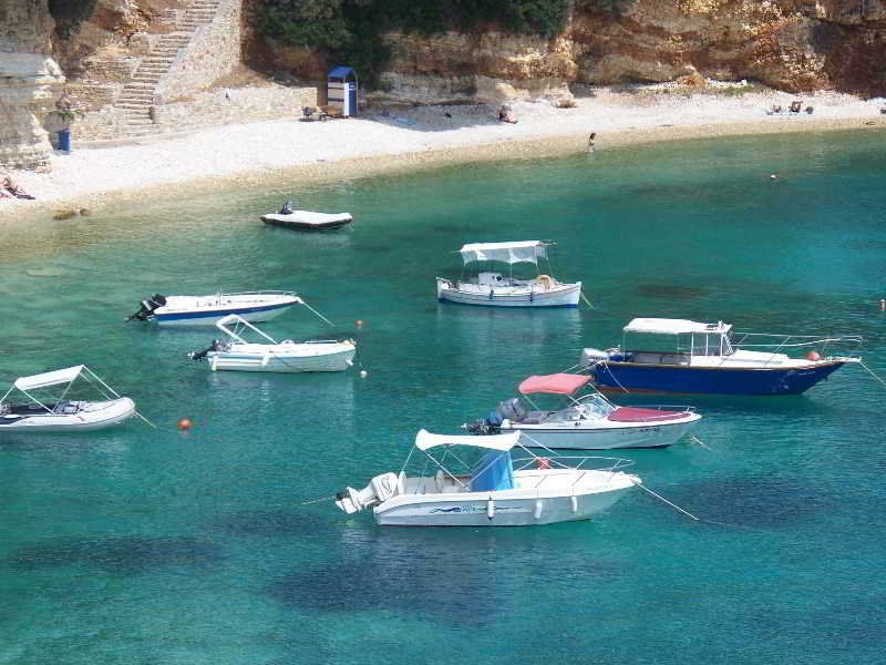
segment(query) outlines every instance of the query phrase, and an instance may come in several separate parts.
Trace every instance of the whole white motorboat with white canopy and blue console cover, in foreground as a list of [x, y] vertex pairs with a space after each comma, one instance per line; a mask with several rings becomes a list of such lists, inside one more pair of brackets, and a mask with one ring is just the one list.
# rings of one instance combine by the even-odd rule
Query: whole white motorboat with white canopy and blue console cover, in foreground
[[[450, 437], [421, 430], [400, 473], [377, 475], [362, 490], [349, 487], [336, 505], [348, 514], [371, 508], [382, 525], [527, 526], [587, 520], [641, 483], [621, 470], [628, 460], [538, 457], [519, 439], [516, 431]], [[513, 459], [515, 447], [528, 457]], [[406, 475], [415, 450], [436, 468], [433, 475]], [[470, 451], [478, 457], [473, 463]], [[591, 460], [604, 467], [591, 469]]]

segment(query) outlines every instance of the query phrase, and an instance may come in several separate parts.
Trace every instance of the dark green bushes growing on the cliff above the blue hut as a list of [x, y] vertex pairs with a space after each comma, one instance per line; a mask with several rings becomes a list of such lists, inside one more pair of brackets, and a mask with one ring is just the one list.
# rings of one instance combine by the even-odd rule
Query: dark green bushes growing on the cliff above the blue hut
[[545, 38], [563, 32], [569, 0], [265, 0], [262, 34], [316, 49], [329, 64], [347, 63], [375, 86], [390, 51], [389, 30], [434, 34], [497, 29]]

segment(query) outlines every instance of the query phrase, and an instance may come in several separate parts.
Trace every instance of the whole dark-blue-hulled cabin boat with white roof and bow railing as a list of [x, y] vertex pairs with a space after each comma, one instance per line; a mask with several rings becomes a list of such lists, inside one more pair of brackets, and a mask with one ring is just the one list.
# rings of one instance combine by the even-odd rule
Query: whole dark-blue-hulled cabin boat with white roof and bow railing
[[[581, 351], [579, 366], [601, 390], [800, 395], [844, 365], [862, 361], [852, 355], [862, 344], [858, 336], [739, 332], [722, 321], [663, 318], [636, 318], [624, 336], [621, 347]], [[635, 336], [645, 341], [636, 344]], [[807, 350], [804, 358], [787, 356], [797, 349]]]

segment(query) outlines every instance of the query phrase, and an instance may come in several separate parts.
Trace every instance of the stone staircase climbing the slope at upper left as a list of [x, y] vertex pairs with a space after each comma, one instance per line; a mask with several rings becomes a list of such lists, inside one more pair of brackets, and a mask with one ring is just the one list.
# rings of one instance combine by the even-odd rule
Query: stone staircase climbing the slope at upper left
[[114, 103], [115, 108], [124, 111], [123, 131], [126, 136], [154, 133], [151, 106], [157, 84], [172, 68], [178, 51], [190, 43], [197, 28], [213, 21], [218, 4], [219, 0], [193, 0], [179, 16], [173, 31], [161, 37], [151, 53], [142, 59]]

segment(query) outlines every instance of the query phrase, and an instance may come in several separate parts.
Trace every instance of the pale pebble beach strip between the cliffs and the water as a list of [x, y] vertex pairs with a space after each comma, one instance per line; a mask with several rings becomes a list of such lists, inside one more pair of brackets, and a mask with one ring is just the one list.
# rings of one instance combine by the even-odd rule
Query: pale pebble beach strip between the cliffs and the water
[[[514, 102], [516, 124], [497, 106], [422, 106], [328, 122], [291, 120], [224, 125], [178, 135], [74, 143], [52, 156], [49, 173], [12, 172], [35, 201], [0, 200], [0, 219], [14, 221], [106, 203], [152, 201], [236, 187], [311, 183], [415, 171], [446, 164], [540, 157], [637, 143], [705, 136], [886, 129], [883, 99], [820, 92], [728, 94], [670, 84], [589, 89], [571, 109]], [[793, 100], [814, 112], [767, 114]], [[224, 103], [220, 100], [219, 103]]]

